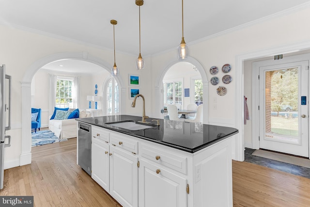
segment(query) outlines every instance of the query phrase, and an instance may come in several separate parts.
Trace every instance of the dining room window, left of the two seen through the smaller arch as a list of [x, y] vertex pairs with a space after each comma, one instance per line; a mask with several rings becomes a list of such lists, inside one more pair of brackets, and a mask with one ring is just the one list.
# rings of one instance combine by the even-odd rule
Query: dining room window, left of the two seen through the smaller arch
[[166, 91], [165, 102], [167, 104], [181, 104], [183, 103], [183, 83], [182, 81], [165, 82], [164, 88]]

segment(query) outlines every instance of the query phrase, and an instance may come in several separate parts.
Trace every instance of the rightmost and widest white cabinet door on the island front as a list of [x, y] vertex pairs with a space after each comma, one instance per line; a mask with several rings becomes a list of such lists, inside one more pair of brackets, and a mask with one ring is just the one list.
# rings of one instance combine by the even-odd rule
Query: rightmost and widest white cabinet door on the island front
[[140, 159], [139, 207], [187, 207], [186, 178]]

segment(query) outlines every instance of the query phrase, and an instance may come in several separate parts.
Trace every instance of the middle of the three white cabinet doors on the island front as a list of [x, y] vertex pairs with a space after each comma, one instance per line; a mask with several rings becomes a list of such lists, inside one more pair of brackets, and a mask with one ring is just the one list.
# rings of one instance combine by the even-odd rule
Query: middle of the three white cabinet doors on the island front
[[110, 194], [124, 207], [138, 207], [138, 157], [110, 147]]

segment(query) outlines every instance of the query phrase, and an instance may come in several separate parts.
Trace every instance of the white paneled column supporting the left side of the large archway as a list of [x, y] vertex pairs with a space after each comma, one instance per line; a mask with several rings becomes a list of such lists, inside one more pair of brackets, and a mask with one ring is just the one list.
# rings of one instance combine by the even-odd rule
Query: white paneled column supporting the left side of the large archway
[[21, 82], [22, 138], [20, 165], [31, 164], [31, 82]]

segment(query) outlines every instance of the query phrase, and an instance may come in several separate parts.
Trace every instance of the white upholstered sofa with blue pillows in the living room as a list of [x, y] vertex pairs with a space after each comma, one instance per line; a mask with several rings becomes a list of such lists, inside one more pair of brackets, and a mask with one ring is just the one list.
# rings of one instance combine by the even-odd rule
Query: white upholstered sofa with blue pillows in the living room
[[[86, 118], [91, 116], [91, 112], [79, 109], [79, 118]], [[75, 119], [51, 119], [49, 120], [48, 128], [49, 130], [54, 132], [54, 134], [59, 137], [59, 139], [69, 139], [77, 137], [77, 121]]]

